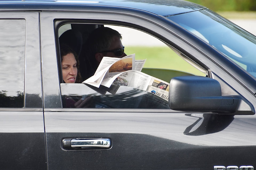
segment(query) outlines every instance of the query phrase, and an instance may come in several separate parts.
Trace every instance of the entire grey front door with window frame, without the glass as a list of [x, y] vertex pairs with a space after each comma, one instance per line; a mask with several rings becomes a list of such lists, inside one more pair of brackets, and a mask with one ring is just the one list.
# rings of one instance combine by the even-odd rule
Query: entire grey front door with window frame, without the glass
[[[104, 12], [103, 12], [104, 13]], [[80, 15], [81, 14], [81, 15]], [[106, 14], [106, 13], [105, 13]], [[181, 113], [170, 109], [62, 108], [54, 19], [99, 19], [141, 23], [157, 32], [146, 20], [121, 14], [93, 12], [41, 15], [45, 130], [49, 170], [55, 169], [214, 169], [214, 166], [253, 165], [255, 115]], [[113, 17], [113, 18], [111, 18]], [[133, 20], [134, 19], [134, 20]], [[140, 22], [141, 21], [141, 22]], [[152, 21], [152, 20], [150, 20]], [[152, 21], [153, 22], [153, 21]], [[160, 21], [159, 21], [160, 22]], [[166, 26], [164, 23], [161, 23]], [[170, 26], [166, 26], [170, 29]], [[177, 31], [177, 30], [176, 30]], [[175, 31], [174, 31], [175, 32]], [[196, 56], [228, 84], [244, 87], [218, 65], [182, 39], [162, 29], [161, 36]], [[223, 81], [224, 83], [224, 81]], [[82, 91], [81, 88], [79, 90]], [[246, 95], [243, 95], [246, 96]], [[247, 96], [246, 96], [247, 97]], [[248, 97], [254, 100], [254, 96]], [[249, 100], [249, 99], [248, 99]], [[250, 100], [251, 101], [251, 100]], [[125, 102], [125, 101], [124, 101]], [[108, 138], [110, 149], [63, 148], [63, 139]]]

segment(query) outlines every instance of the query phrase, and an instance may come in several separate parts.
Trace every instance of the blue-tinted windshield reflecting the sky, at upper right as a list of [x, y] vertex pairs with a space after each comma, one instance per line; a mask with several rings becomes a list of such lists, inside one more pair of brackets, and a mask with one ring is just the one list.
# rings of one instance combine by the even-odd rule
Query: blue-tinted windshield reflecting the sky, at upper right
[[197, 35], [256, 77], [256, 38], [210, 10], [167, 17]]

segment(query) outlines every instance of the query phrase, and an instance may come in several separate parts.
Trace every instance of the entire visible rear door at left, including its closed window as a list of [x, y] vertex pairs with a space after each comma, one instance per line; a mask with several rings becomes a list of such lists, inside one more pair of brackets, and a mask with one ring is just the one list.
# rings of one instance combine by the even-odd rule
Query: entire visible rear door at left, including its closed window
[[43, 170], [47, 164], [39, 14], [17, 11], [0, 13], [1, 169]]

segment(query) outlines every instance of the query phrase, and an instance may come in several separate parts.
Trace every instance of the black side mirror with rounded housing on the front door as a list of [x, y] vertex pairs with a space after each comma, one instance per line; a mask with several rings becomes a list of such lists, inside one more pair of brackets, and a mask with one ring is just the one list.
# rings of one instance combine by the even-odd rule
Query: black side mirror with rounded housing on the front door
[[170, 81], [169, 107], [188, 112], [234, 113], [238, 96], [221, 96], [217, 80], [202, 76], [174, 77]]

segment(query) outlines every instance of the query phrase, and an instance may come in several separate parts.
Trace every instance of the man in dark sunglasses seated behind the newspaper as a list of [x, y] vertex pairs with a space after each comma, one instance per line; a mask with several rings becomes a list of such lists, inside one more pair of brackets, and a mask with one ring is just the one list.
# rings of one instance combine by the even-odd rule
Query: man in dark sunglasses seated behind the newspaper
[[87, 73], [85, 79], [94, 75], [104, 56], [122, 58], [126, 56], [121, 34], [109, 27], [94, 29], [85, 43]]

